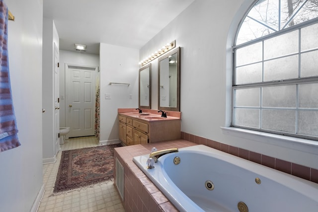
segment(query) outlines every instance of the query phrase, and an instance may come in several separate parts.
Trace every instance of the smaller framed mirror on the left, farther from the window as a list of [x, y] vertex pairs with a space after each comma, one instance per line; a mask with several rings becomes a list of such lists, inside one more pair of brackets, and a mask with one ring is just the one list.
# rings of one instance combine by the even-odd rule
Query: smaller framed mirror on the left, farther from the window
[[151, 109], [151, 64], [139, 70], [139, 108]]

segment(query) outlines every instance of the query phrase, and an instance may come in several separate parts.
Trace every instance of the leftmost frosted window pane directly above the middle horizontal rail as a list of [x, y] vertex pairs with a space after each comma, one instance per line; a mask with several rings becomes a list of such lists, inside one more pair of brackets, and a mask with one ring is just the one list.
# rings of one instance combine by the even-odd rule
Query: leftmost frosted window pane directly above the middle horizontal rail
[[262, 81], [262, 63], [239, 67], [236, 69], [236, 84]]

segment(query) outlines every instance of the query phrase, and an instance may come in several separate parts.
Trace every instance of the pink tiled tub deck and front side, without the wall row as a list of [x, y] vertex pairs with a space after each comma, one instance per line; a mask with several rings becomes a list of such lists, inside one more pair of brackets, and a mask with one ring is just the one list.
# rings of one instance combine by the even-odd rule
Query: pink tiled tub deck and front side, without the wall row
[[[124, 201], [126, 212], [178, 212], [159, 189], [133, 162], [133, 157], [149, 154], [153, 147], [158, 150], [182, 148], [197, 145], [185, 140], [159, 141], [156, 143], [123, 146], [114, 149], [114, 158], [118, 158], [124, 167]], [[114, 170], [114, 175], [116, 170]], [[116, 176], [114, 176], [116, 181]], [[115, 184], [116, 182], [114, 182]]]

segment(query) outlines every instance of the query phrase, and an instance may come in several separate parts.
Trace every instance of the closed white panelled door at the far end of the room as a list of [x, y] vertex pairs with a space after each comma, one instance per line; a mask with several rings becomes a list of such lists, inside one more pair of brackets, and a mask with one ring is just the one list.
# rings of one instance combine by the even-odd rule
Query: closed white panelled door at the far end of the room
[[69, 137], [94, 135], [95, 71], [97, 67], [66, 65], [66, 127]]

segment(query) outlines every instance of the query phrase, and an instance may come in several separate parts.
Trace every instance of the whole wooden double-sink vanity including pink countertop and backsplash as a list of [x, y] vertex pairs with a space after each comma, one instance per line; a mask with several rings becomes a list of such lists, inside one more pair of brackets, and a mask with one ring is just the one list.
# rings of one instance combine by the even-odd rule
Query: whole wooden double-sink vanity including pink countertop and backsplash
[[119, 108], [119, 139], [125, 145], [169, 141], [181, 138], [181, 112], [165, 111], [162, 118], [158, 110], [143, 109], [139, 114], [135, 108]]

